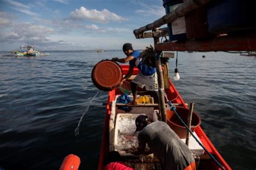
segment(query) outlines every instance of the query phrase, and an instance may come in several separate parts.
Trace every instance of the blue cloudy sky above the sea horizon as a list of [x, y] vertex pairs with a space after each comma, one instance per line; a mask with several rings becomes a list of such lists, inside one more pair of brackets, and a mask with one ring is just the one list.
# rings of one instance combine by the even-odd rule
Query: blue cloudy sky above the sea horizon
[[[162, 0], [0, 0], [0, 51], [33, 44], [39, 50], [122, 50], [153, 44], [133, 30], [165, 15]], [[166, 26], [166, 25], [165, 25]]]

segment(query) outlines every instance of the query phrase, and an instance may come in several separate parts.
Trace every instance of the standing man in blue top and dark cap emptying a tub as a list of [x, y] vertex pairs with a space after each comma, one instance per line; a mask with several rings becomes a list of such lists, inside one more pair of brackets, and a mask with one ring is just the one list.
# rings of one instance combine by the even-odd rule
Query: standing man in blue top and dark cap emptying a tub
[[137, 66], [139, 69], [139, 74], [131, 81], [131, 90], [132, 90], [132, 96], [133, 101], [131, 101], [131, 104], [137, 104], [137, 86], [143, 88], [145, 87], [148, 91], [155, 91], [157, 93], [158, 91], [158, 83], [157, 83], [157, 73], [156, 73], [156, 67], [151, 66], [148, 63], [152, 63], [149, 61], [143, 61], [143, 58], [140, 57], [139, 51], [134, 51], [132, 48], [132, 44], [125, 43], [123, 45], [123, 51], [126, 55], [126, 58], [112, 58], [113, 61], [119, 62], [119, 63], [127, 63], [129, 62], [129, 71], [123, 78], [120, 85], [123, 84], [125, 80], [130, 78], [132, 76], [132, 72], [134, 69], [134, 66]]

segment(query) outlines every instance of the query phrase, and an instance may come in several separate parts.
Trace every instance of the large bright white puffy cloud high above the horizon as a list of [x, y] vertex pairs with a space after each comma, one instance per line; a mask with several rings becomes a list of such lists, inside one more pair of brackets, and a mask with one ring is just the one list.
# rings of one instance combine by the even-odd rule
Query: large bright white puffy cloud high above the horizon
[[126, 18], [123, 18], [116, 13], [110, 12], [107, 9], [98, 11], [96, 9], [88, 10], [84, 6], [81, 6], [80, 9], [70, 13], [71, 18], [75, 19], [88, 19], [95, 22], [110, 22], [110, 21], [127, 21]]

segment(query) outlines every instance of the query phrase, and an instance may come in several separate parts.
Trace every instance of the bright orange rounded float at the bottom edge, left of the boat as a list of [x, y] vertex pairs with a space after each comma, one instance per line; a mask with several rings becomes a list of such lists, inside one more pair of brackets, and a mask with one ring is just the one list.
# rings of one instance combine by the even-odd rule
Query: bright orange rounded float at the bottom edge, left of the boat
[[80, 158], [77, 155], [69, 154], [64, 158], [59, 170], [78, 170], [79, 165]]

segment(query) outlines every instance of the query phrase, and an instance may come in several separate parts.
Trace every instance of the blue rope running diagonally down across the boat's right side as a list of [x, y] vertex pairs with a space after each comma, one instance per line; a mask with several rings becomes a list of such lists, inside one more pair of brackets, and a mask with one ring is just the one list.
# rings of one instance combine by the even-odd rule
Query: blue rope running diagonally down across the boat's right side
[[220, 163], [213, 157], [213, 155], [204, 147], [203, 144], [201, 144], [201, 142], [197, 139], [197, 137], [192, 133], [192, 131], [190, 130], [190, 128], [187, 127], [186, 123], [180, 118], [179, 114], [176, 112], [176, 107], [172, 105], [171, 101], [168, 101], [168, 104], [171, 106], [170, 110], [174, 111], [174, 113], [177, 115], [177, 117], [179, 118], [179, 120], [181, 121], [181, 123], [183, 123], [186, 127], [186, 129], [188, 130], [188, 132], [190, 132], [190, 134], [193, 136], [194, 139], [196, 139], [196, 141], [198, 142], [198, 144], [203, 147], [203, 149], [205, 150], [205, 152], [207, 152], [208, 155], [210, 155], [210, 157], [213, 159], [213, 161], [223, 170], [225, 170], [225, 168], [220, 165]]

